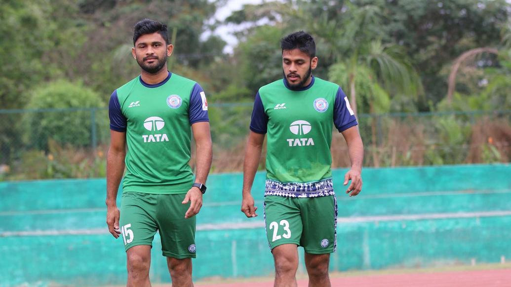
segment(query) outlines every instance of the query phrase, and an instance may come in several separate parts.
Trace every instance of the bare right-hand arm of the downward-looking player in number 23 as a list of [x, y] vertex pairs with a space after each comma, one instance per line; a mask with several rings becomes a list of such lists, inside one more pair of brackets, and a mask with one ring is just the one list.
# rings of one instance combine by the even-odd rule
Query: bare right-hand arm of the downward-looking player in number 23
[[342, 135], [348, 145], [350, 161], [352, 164], [350, 171], [348, 171], [344, 176], [344, 185], [346, 185], [349, 180], [352, 181], [346, 190], [346, 194], [351, 192], [350, 196], [356, 196], [362, 190], [362, 161], [364, 159], [364, 146], [357, 126], [344, 130]]

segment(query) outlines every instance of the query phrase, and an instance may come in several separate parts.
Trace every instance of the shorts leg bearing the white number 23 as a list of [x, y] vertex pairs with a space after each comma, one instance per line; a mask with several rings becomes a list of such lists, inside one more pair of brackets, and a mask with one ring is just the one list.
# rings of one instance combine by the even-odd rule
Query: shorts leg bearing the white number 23
[[302, 226], [296, 198], [266, 196], [264, 220], [270, 249], [283, 244], [299, 245]]

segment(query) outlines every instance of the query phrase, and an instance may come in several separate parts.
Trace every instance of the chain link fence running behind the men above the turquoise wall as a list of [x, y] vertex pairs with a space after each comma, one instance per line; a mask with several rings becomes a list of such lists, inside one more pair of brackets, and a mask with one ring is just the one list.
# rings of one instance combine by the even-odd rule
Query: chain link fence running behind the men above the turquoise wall
[[[251, 111], [252, 103], [210, 105], [212, 172], [242, 171]], [[365, 166], [493, 163], [511, 157], [511, 110], [360, 114], [358, 119]], [[0, 180], [104, 177], [109, 133], [107, 108], [0, 110]], [[336, 130], [332, 159], [334, 168], [350, 165]], [[192, 167], [194, 162], [192, 155]]]

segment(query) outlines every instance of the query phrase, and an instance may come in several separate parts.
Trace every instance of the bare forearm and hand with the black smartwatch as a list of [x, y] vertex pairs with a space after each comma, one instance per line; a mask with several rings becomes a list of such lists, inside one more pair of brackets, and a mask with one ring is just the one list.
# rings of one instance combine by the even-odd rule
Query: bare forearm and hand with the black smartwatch
[[[210, 173], [211, 160], [213, 158], [210, 123], [195, 123], [192, 125], [192, 132], [197, 148], [195, 182], [205, 184], [207, 175]], [[190, 207], [184, 214], [184, 218], [195, 216], [202, 207], [202, 193], [198, 187], [191, 187], [190, 190], [188, 190], [182, 204], [187, 204], [189, 201], [191, 202]]]

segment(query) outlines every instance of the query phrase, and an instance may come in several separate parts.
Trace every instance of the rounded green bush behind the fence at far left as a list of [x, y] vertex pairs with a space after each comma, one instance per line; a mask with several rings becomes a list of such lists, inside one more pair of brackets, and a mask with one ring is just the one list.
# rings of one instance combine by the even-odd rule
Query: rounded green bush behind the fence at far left
[[[81, 83], [56, 81], [34, 89], [28, 109], [65, 109], [103, 107], [105, 103], [93, 90]], [[91, 112], [88, 110], [62, 113], [31, 112], [26, 114], [27, 142], [35, 147], [47, 149], [47, 140], [54, 139], [60, 145], [77, 147], [90, 145]], [[104, 127], [105, 128], [105, 127]]]

